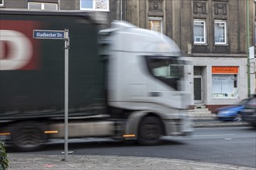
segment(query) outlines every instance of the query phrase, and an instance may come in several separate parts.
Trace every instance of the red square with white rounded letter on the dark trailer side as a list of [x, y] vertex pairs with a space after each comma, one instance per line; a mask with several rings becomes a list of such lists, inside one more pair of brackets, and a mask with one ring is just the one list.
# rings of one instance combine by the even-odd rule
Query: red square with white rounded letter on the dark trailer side
[[39, 41], [33, 39], [33, 29], [39, 22], [0, 21], [0, 70], [39, 69]]

